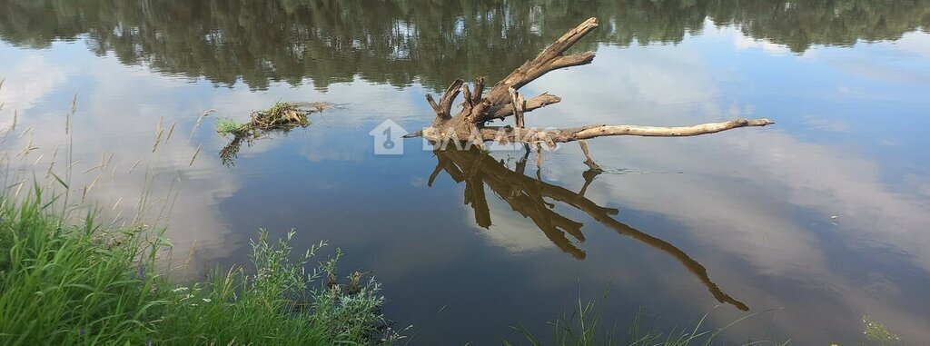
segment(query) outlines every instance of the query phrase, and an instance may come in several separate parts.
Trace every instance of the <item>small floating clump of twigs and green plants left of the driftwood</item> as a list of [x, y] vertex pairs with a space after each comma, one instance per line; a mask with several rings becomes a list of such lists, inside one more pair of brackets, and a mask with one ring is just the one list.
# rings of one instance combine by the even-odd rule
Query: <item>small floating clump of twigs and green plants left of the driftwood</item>
[[219, 119], [217, 132], [223, 137], [233, 137], [229, 144], [219, 150], [219, 158], [223, 165], [234, 166], [243, 143], [251, 146], [255, 140], [286, 135], [295, 127], [309, 126], [310, 114], [323, 112], [332, 106], [329, 102], [278, 102], [267, 110], [253, 112], [245, 124]]

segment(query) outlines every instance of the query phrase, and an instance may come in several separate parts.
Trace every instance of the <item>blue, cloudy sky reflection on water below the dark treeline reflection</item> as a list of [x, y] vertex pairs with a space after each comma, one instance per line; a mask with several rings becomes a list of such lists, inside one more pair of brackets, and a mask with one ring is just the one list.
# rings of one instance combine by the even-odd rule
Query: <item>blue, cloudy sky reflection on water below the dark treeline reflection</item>
[[[564, 30], [542, 22], [544, 33], [525, 36], [525, 50]], [[532, 19], [521, 23], [517, 29], [532, 32]], [[715, 326], [745, 315], [744, 306], [783, 308], [733, 327], [734, 340], [851, 343], [863, 314], [902, 339], [930, 339], [930, 35], [799, 48], [697, 23], [674, 45], [599, 37], [589, 46], [597, 51], [591, 65], [525, 87], [563, 98], [527, 124], [671, 126], [751, 116], [777, 125], [592, 140], [608, 171], [593, 179], [573, 145], [545, 154], [539, 172], [530, 155], [525, 174], [515, 172], [519, 152], [449, 157], [408, 140], [403, 156], [373, 155], [371, 128], [386, 119], [427, 125], [423, 93], [451, 77], [499, 73], [489, 62], [400, 82], [392, 78], [403, 73], [372, 77], [377, 70], [357, 64], [338, 78], [225, 85], [153, 61], [99, 57], [84, 39], [13, 46], [8, 32], [0, 43], [0, 128], [14, 112], [18, 124], [2, 148], [25, 171], [62, 166], [64, 117], [76, 93], [75, 198], [96, 181], [87, 200], [107, 218], [129, 220], [148, 187], [149, 220], [170, 215], [179, 253], [196, 240], [197, 269], [245, 260], [259, 227], [296, 227], [302, 244], [326, 239], [348, 253], [346, 271], [371, 270], [384, 282], [390, 315], [429, 322], [417, 339], [424, 344], [517, 338], [508, 328], [516, 322], [546, 333], [543, 321], [571, 309], [579, 283], [586, 298], [610, 284], [604, 313], [621, 324], [642, 309], [658, 316], [657, 326], [684, 326], [724, 303], [711, 314]], [[306, 129], [244, 147], [235, 166], [223, 166], [215, 118], [245, 119], [277, 100], [339, 107], [312, 115]], [[209, 109], [216, 113], [197, 127]], [[38, 149], [18, 156], [30, 143]], [[431, 184], [437, 164], [444, 169]], [[5, 174], [9, 183], [25, 176]], [[486, 212], [474, 197], [482, 192]], [[578, 207], [589, 202], [591, 212]]]

